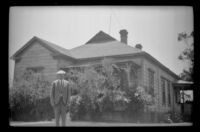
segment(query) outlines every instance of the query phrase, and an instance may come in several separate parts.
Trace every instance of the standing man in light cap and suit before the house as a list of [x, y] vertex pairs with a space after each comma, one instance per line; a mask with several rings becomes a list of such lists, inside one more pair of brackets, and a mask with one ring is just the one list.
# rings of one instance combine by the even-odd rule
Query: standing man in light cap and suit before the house
[[64, 80], [65, 71], [59, 70], [57, 77], [58, 79], [52, 83], [50, 99], [55, 113], [56, 126], [59, 126], [60, 117], [62, 119], [62, 126], [65, 126], [71, 89], [69, 87], [69, 81]]

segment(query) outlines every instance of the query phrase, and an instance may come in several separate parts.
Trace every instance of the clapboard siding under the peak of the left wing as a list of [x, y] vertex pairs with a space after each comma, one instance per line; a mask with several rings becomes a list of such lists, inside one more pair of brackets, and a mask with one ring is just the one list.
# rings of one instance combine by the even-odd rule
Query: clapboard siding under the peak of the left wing
[[27, 67], [44, 67], [43, 74], [48, 81], [56, 79], [57, 60], [51, 56], [51, 51], [43, 47], [38, 42], [34, 42], [20, 55], [20, 61], [15, 64], [15, 73], [22, 71]]

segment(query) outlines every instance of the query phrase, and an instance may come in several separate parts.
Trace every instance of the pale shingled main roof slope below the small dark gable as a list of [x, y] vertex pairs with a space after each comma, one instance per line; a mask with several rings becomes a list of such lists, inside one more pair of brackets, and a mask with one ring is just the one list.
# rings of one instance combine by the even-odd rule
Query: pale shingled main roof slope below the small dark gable
[[91, 43], [70, 50], [71, 55], [77, 59], [134, 54], [139, 52], [143, 51], [119, 41], [110, 41], [101, 44]]

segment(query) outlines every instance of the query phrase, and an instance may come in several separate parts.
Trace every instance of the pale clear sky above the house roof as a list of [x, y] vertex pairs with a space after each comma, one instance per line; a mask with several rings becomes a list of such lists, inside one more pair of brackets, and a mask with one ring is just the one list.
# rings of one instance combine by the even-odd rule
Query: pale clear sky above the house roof
[[193, 31], [190, 6], [15, 6], [9, 10], [9, 81], [14, 74], [10, 57], [34, 36], [71, 49], [100, 30], [120, 41], [121, 29], [128, 31], [128, 45], [140, 43], [175, 74], [188, 67], [178, 60], [186, 45], [177, 37]]

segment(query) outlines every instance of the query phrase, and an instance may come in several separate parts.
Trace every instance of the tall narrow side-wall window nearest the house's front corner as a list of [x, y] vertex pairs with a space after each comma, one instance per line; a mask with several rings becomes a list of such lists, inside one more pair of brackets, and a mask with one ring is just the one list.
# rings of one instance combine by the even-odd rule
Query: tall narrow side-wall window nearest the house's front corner
[[149, 78], [149, 93], [154, 95], [154, 71], [148, 69], [148, 78]]

